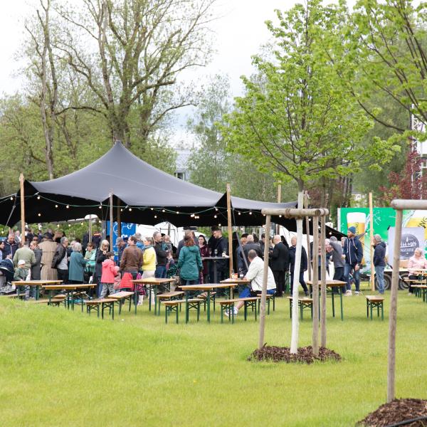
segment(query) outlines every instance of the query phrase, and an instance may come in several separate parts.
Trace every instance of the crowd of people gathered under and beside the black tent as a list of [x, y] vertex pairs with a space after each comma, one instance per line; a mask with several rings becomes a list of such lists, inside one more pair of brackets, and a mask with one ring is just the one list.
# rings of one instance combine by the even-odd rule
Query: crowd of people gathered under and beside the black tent
[[[290, 293], [294, 275], [302, 286], [306, 296], [310, 292], [305, 283], [304, 274], [309, 266], [307, 252], [302, 247], [300, 270], [295, 272], [295, 253], [297, 238], [290, 239], [290, 245], [284, 236], [273, 236], [265, 242], [255, 234], [244, 233], [239, 239], [236, 235], [236, 267], [241, 278], [251, 280], [251, 285], [241, 289], [241, 297], [260, 292], [263, 275], [263, 257], [265, 245], [268, 244], [268, 292], [282, 297], [286, 290], [286, 280], [290, 278]], [[233, 239], [234, 240], [234, 239]], [[11, 232], [5, 241], [0, 241], [0, 288], [12, 280], [62, 280], [63, 283], [97, 283], [96, 294], [105, 297], [116, 290], [129, 289], [132, 280], [137, 278], [166, 278], [179, 275], [179, 285], [198, 283], [219, 283], [228, 278], [228, 241], [222, 235], [221, 228], [212, 227], [211, 236], [196, 238], [194, 231], [185, 230], [178, 246], [172, 245], [170, 237], [154, 232], [153, 236], [142, 237], [140, 233], [124, 238], [117, 238], [118, 260], [110, 242], [100, 240], [97, 233], [89, 238], [83, 236], [83, 242], [75, 238], [69, 241], [62, 231], [53, 233], [32, 233], [26, 231], [24, 244], [19, 232]], [[374, 266], [379, 283], [379, 292], [384, 292], [384, 267], [386, 246], [379, 235], [374, 236]], [[344, 295], [352, 295], [350, 278], [354, 280], [355, 295], [359, 293], [359, 270], [362, 263], [362, 243], [356, 236], [354, 227], [349, 227], [347, 238], [337, 241], [332, 236], [325, 241], [325, 261], [329, 273], [330, 263], [334, 264], [333, 279], [347, 283]], [[84, 255], [83, 255], [84, 253]], [[319, 256], [319, 278], [321, 245], [312, 254]], [[418, 254], [419, 255], [419, 254]], [[420, 266], [427, 262], [423, 256], [416, 258], [413, 265]], [[213, 262], [214, 261], [214, 262]], [[311, 262], [312, 260], [310, 260]], [[418, 265], [420, 264], [420, 265]], [[8, 276], [9, 274], [9, 276]], [[2, 281], [3, 283], [2, 283]], [[10, 290], [10, 289], [9, 289]], [[12, 289], [13, 290], [13, 287]], [[159, 287], [159, 292], [164, 291]], [[28, 292], [27, 297], [33, 297]], [[140, 290], [139, 301], [142, 303], [144, 290]], [[238, 311], [238, 306], [236, 310]]]

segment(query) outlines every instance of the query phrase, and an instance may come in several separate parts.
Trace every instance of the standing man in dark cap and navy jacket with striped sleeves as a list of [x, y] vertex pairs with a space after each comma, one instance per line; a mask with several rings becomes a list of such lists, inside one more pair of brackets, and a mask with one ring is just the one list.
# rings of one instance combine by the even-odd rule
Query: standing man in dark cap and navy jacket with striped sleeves
[[361, 268], [362, 258], [363, 258], [363, 248], [362, 243], [359, 241], [359, 238], [356, 236], [356, 227], [349, 227], [347, 230], [347, 241], [344, 242], [344, 255], [345, 255], [345, 265], [344, 265], [344, 282], [347, 282], [347, 292], [345, 295], [347, 297], [352, 296], [352, 285], [350, 284], [349, 275], [354, 271], [354, 285], [356, 290], [354, 295], [359, 295], [359, 270]]

